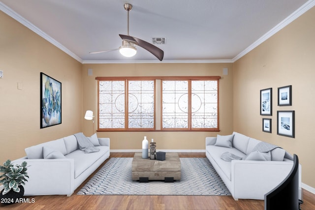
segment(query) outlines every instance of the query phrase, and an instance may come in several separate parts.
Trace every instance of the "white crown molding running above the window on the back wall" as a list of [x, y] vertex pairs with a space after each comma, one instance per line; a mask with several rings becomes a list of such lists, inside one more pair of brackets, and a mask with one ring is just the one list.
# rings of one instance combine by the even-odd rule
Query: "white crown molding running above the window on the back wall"
[[233, 60], [83, 60], [83, 64], [104, 63], [232, 63]]

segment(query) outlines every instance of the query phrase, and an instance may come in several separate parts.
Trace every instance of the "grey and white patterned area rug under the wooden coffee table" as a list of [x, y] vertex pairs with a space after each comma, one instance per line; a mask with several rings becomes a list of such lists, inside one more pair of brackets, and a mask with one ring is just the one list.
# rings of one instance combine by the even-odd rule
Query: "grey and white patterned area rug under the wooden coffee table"
[[231, 195], [207, 158], [180, 158], [182, 179], [131, 180], [132, 157], [112, 157], [78, 195]]

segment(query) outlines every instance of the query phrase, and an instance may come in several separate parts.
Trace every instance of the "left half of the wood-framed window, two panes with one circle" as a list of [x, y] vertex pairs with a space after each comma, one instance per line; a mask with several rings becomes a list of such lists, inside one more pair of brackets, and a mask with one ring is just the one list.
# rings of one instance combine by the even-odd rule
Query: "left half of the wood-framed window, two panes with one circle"
[[154, 80], [99, 80], [98, 129], [154, 129], [154, 90]]

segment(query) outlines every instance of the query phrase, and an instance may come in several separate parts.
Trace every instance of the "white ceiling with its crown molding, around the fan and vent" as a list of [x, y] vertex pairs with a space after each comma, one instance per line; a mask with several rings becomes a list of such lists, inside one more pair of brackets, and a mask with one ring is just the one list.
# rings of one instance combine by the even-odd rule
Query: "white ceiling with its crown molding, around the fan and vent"
[[166, 37], [162, 62], [232, 62], [315, 5], [315, 0], [0, 0], [0, 9], [83, 63], [160, 62], [137, 47], [118, 51], [126, 34]]

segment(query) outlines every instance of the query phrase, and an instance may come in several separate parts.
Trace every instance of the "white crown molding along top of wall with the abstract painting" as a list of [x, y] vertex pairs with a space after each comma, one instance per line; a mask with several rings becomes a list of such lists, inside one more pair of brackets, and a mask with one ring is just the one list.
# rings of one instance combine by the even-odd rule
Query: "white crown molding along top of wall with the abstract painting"
[[66, 47], [64, 47], [61, 43], [59, 43], [58, 41], [56, 41], [55, 39], [53, 39], [51, 36], [49, 36], [47, 33], [45, 33], [44, 31], [38, 29], [36, 26], [34, 26], [30, 21], [26, 20], [24, 17], [22, 17], [21, 15], [19, 15], [18, 13], [16, 13], [14, 10], [12, 10], [10, 7], [6, 6], [4, 3], [0, 2], [0, 10], [2, 12], [4, 12], [5, 14], [7, 14], [8, 16], [12, 17], [13, 19], [15, 19], [16, 21], [18, 21], [19, 23], [21, 23], [22, 25], [24, 25], [25, 27], [29, 28], [30, 30], [32, 30], [33, 32], [37, 33], [38, 35], [40, 35], [41, 37], [43, 37], [44, 39], [46, 39], [47, 41], [49, 41], [50, 43], [52, 43], [53, 45], [55, 45], [56, 47], [58, 47], [59, 49], [61, 49], [63, 52], [65, 52], [66, 54], [68, 54], [69, 56], [71, 56], [72, 58], [74, 58], [75, 60], [78, 60], [79, 62], [82, 63], [82, 59], [79, 58], [77, 55], [75, 55], [74, 53], [72, 53], [69, 49], [67, 49]]

